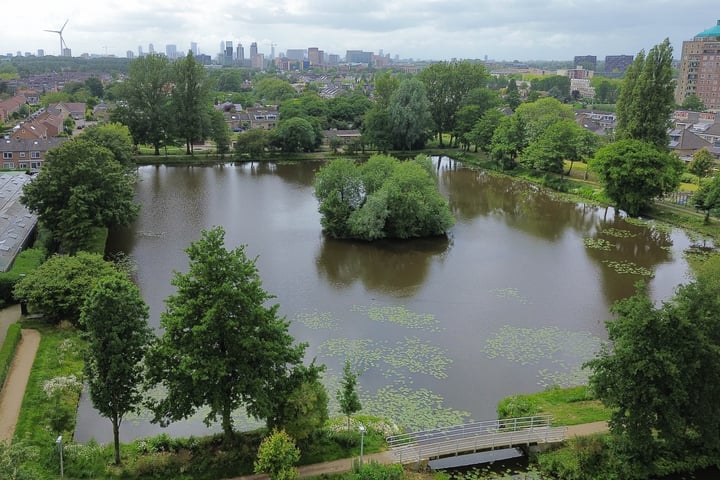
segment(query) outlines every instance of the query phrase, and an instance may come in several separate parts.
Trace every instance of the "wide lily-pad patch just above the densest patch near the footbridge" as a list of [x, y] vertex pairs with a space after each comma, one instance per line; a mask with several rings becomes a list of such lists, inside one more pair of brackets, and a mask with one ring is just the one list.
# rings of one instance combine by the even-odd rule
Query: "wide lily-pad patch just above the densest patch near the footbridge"
[[383, 376], [398, 378], [404, 378], [403, 369], [414, 374], [447, 378], [447, 369], [452, 363], [443, 349], [416, 337], [405, 338], [394, 345], [368, 339], [334, 338], [322, 343], [318, 353], [346, 358], [358, 374], [378, 368]]

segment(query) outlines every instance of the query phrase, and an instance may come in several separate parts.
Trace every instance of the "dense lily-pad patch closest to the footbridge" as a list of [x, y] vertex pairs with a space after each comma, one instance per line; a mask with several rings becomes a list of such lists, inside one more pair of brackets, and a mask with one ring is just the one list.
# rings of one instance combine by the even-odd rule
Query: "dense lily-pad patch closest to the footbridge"
[[413, 390], [404, 385], [388, 385], [372, 395], [361, 396], [364, 412], [393, 419], [405, 431], [459, 425], [472, 421], [469, 412], [453, 410], [444, 399], [424, 388]]

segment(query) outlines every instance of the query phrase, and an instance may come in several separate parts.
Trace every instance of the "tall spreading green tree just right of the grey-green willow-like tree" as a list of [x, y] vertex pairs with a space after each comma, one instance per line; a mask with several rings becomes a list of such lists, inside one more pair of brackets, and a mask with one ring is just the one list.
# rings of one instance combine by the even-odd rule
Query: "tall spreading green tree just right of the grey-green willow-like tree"
[[485, 86], [488, 71], [480, 63], [434, 63], [421, 71], [418, 77], [425, 84], [435, 132], [442, 146], [442, 134], [455, 130], [457, 111], [466, 104], [467, 96], [473, 89]]

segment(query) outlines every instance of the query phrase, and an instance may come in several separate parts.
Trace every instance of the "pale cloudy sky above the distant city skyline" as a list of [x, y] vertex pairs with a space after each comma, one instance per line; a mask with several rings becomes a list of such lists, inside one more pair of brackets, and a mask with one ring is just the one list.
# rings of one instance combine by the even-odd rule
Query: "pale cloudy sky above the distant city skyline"
[[713, 27], [718, 0], [36, 0], [2, 12], [0, 54], [60, 53], [125, 57], [196, 42], [213, 57], [221, 41], [250, 43], [270, 56], [318, 47], [390, 54], [394, 59], [572, 60], [576, 55], [635, 55], [669, 38]]

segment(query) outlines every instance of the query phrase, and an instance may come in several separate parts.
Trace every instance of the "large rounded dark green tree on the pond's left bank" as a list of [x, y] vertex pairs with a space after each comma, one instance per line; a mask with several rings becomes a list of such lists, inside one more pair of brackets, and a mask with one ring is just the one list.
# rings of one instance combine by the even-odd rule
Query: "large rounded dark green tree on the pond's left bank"
[[75, 139], [47, 153], [37, 178], [25, 185], [20, 203], [50, 229], [62, 251], [87, 248], [97, 227], [124, 226], [137, 216], [134, 177], [112, 152]]

